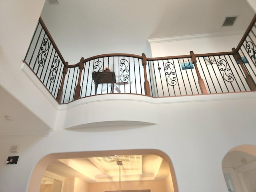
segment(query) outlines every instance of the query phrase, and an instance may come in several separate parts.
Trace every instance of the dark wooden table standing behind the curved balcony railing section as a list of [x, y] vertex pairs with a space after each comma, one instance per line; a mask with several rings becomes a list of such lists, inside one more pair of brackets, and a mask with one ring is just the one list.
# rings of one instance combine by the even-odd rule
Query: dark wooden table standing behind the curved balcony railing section
[[95, 94], [98, 84], [111, 83], [111, 93], [113, 93], [114, 83], [116, 82], [115, 72], [92, 72], [92, 78], [95, 84]]

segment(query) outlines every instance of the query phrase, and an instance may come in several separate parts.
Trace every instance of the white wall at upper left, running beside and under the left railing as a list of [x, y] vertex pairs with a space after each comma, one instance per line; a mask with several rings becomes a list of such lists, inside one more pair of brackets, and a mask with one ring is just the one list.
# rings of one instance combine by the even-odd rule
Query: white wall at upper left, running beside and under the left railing
[[[34, 116], [53, 128], [56, 107], [21, 71], [22, 60], [28, 50], [44, 2], [45, 0], [1, 1], [0, 18], [5, 19], [0, 21], [0, 86], [31, 110]], [[44, 104], [41, 105], [42, 103]]]

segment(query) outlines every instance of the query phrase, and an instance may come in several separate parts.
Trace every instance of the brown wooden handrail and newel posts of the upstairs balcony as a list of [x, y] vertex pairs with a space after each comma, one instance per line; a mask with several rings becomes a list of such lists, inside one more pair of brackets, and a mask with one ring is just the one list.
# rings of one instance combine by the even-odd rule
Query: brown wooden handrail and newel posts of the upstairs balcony
[[[194, 68], [195, 68], [195, 71], [196, 71], [196, 74], [197, 74], [197, 77], [198, 77], [198, 84], [200, 86], [201, 93], [202, 94], [208, 94], [207, 90], [206, 90], [206, 86], [204, 84], [204, 80], [202, 79], [202, 77], [201, 77], [201, 75], [199, 73], [198, 67], [197, 67], [197, 59], [201, 59], [202, 57], [209, 57], [209, 56], [233, 55], [234, 58], [240, 63], [240, 66], [242, 67], [242, 70], [243, 70], [243, 72], [244, 72], [244, 74], [246, 76], [246, 82], [248, 83], [248, 85], [250, 87], [250, 90], [255, 91], [256, 90], [256, 84], [254, 83], [254, 80], [252, 79], [252, 77], [250, 76], [248, 71], [246, 70], [246, 68], [245, 68], [245, 66], [244, 66], [244, 64], [243, 64], [243, 62], [241, 60], [241, 56], [238, 54], [238, 51], [242, 47], [244, 41], [246, 40], [246, 38], [249, 35], [250, 31], [252, 30], [253, 26], [255, 25], [255, 22], [256, 22], [256, 14], [254, 15], [254, 18], [252, 19], [252, 21], [250, 22], [250, 25], [248, 26], [244, 36], [242, 37], [242, 40], [240, 40], [237, 48], [233, 48], [232, 51], [230, 51], [230, 52], [216, 52], [216, 53], [194, 54], [194, 52], [191, 51], [190, 54], [188, 54], [188, 55], [165, 56], [165, 57], [156, 57], [156, 58], [147, 58], [145, 54], [142, 54], [142, 56], [136, 55], [136, 54], [126, 54], [126, 53], [101, 54], [101, 55], [92, 56], [92, 57], [86, 58], [86, 59], [81, 58], [80, 62], [78, 62], [76, 64], [69, 65], [68, 62], [65, 62], [64, 58], [62, 57], [62, 55], [60, 53], [60, 50], [56, 46], [56, 43], [54, 42], [52, 36], [50, 35], [50, 32], [46, 28], [42, 18], [41, 17], [39, 18], [39, 23], [41, 24], [42, 28], [44, 29], [46, 35], [48, 36], [48, 39], [50, 40], [52, 46], [56, 50], [56, 53], [58, 54], [58, 56], [60, 57], [60, 60], [62, 60], [62, 63], [64, 65], [63, 72], [62, 72], [62, 79], [61, 79], [61, 82], [60, 82], [60, 88], [58, 90], [58, 94], [57, 94], [57, 98], [56, 98], [59, 103], [61, 103], [63, 87], [64, 87], [64, 81], [65, 81], [65, 76], [66, 76], [66, 74], [68, 72], [68, 68], [76, 68], [76, 67], [78, 67], [78, 70], [79, 70], [78, 82], [77, 82], [77, 85], [76, 85], [75, 91], [74, 91], [74, 100], [77, 100], [77, 99], [80, 98], [80, 93], [81, 93], [81, 86], [80, 86], [80, 84], [81, 84], [81, 80], [82, 80], [82, 70], [84, 70], [85, 63], [89, 62], [89, 61], [92, 61], [92, 60], [96, 60], [96, 62], [97, 62], [98, 59], [100, 59], [100, 58], [109, 58], [109, 57], [121, 57], [121, 59], [122, 59], [122, 57], [127, 57], [129, 59], [130, 58], [136, 58], [136, 59], [140, 60], [140, 61], [138, 61], [138, 63], [140, 64], [140, 62], [141, 62], [142, 66], [143, 66], [143, 70], [144, 70], [144, 80], [145, 80], [145, 82], [144, 82], [144, 90], [145, 90], [145, 95], [146, 96], [150, 96], [150, 85], [149, 85], [149, 82], [148, 82], [148, 74], [147, 74], [147, 70], [146, 70], [146, 65], [150, 64], [149, 61], [153, 62], [153, 61], [157, 61], [157, 60], [174, 60], [174, 59], [188, 58], [189, 60], [192, 61], [193, 65], [194, 65]], [[204, 78], [206, 78], [206, 77], [204, 77]], [[199, 92], [198, 92], [198, 94], [199, 94]]]

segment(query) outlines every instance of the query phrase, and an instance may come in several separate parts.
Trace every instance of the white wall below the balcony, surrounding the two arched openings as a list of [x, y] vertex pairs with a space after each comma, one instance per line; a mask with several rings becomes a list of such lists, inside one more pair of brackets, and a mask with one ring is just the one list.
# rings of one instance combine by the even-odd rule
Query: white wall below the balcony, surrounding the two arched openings
[[[97, 114], [99, 100], [109, 105], [117, 98], [116, 95], [106, 95], [102, 98], [95, 96], [94, 99], [87, 110], [78, 108], [78, 112], [84, 116], [87, 113]], [[75, 132], [64, 130], [66, 113], [60, 111], [56, 129], [48, 137], [0, 140], [0, 191], [26, 191], [34, 166], [47, 154], [125, 149], [158, 149], [165, 152], [172, 160], [180, 192], [201, 192], [206, 188], [209, 192], [225, 191], [223, 157], [234, 146], [256, 145], [255, 92], [156, 99], [124, 95], [122, 100], [120, 108], [129, 106], [129, 114], [130, 110], [140, 109], [142, 118], [154, 109], [157, 124], [116, 126], [115, 130], [96, 127]], [[118, 108], [113, 115], [116, 112]], [[126, 114], [123, 115], [126, 117]], [[100, 119], [99, 116], [98, 121]], [[13, 155], [9, 152], [13, 144], [20, 144], [20, 152], [16, 154], [20, 158], [17, 165], [6, 165], [7, 156]], [[46, 166], [38, 172], [44, 174]], [[30, 191], [34, 192], [37, 186], [33, 184], [35, 188]]]

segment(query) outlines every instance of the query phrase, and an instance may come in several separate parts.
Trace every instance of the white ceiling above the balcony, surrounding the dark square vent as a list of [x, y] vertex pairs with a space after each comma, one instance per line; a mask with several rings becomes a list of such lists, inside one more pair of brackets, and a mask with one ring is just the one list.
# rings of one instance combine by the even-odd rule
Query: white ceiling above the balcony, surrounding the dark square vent
[[[246, 0], [46, 0], [41, 17], [70, 64], [81, 57], [130, 53], [150, 57], [148, 39], [245, 31]], [[226, 16], [238, 16], [222, 27]], [[188, 54], [188, 53], [184, 53]]]

